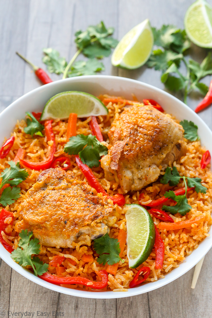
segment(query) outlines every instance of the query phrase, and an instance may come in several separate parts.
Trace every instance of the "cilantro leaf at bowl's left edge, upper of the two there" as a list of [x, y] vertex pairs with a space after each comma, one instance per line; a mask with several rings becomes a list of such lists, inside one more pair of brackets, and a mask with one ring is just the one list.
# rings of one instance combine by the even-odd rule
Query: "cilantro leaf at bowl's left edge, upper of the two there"
[[5, 168], [1, 173], [2, 182], [0, 184], [0, 189], [6, 183], [9, 183], [10, 185], [18, 185], [29, 176], [25, 169], [20, 168], [19, 162], [15, 164], [15, 162], [9, 161], [8, 163], [10, 168]]

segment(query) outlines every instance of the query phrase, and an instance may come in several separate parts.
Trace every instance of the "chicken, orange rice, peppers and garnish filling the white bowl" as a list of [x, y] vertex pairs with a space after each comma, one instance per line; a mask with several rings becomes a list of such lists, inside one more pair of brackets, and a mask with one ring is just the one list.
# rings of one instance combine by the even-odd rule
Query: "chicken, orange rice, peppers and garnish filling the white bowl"
[[[16, 192], [15, 202], [13, 200], [1, 210], [0, 238], [8, 251], [15, 250], [12, 255], [20, 265], [30, 266], [24, 264], [20, 250], [31, 248], [31, 254], [38, 254], [32, 257], [29, 268], [34, 266], [34, 272], [41, 279], [68, 288], [127, 291], [143, 281], [163, 278], [180, 266], [185, 256], [209, 235], [212, 180], [209, 156], [204, 155], [206, 152], [198, 141], [195, 125], [188, 121], [180, 124], [170, 114], [160, 113], [154, 101], [145, 102], [150, 104], [145, 106], [106, 95], [99, 99], [107, 107], [108, 114], [99, 115], [97, 121], [94, 116], [79, 119], [71, 115], [69, 120], [39, 122], [40, 114], [34, 114], [34, 118], [31, 115], [31, 119], [28, 118], [28, 124], [24, 120], [17, 122], [12, 140], [2, 149], [1, 153], [6, 156], [1, 159], [0, 168], [1, 171], [8, 168], [3, 173], [2, 189], [8, 189], [6, 194], [10, 200], [13, 200], [11, 192], [18, 191], [17, 187], [21, 193], [17, 197]], [[137, 116], [133, 117], [136, 110]], [[129, 114], [127, 121], [126, 113]], [[150, 118], [142, 121], [140, 114]], [[158, 134], [151, 135], [156, 129], [154, 116], [161, 134], [159, 139]], [[127, 130], [130, 121], [134, 125]], [[167, 124], [161, 132], [159, 123], [162, 121]], [[167, 130], [166, 138], [162, 139], [168, 124], [172, 130]], [[29, 130], [30, 126], [33, 127]], [[115, 135], [113, 129], [126, 132], [127, 137]], [[136, 133], [142, 137], [138, 138], [139, 146], [137, 139], [133, 142], [130, 139]], [[110, 140], [108, 136], [113, 137]], [[151, 149], [154, 138], [157, 138], [158, 149], [150, 154], [156, 157], [156, 163], [152, 157], [149, 163], [152, 179], [141, 174], [140, 181], [145, 179], [146, 183], [136, 182], [137, 188], [133, 189], [131, 173], [136, 179], [136, 171], [140, 173], [141, 169], [135, 163], [139, 165], [140, 158], [145, 155], [142, 140], [148, 141], [146, 149]], [[111, 154], [117, 142], [124, 147], [117, 151], [118, 169], [112, 169], [114, 155]], [[136, 156], [137, 160], [131, 158], [130, 164], [127, 162], [122, 183], [119, 166], [123, 165], [122, 159], [126, 159], [130, 150], [128, 142], [135, 151], [132, 158]], [[177, 147], [178, 144], [181, 146]], [[140, 146], [143, 153], [139, 157]], [[173, 152], [174, 146], [180, 153]], [[168, 154], [169, 159], [164, 163]], [[106, 158], [108, 164], [105, 166]], [[13, 160], [15, 162], [11, 163]], [[98, 164], [99, 160], [104, 169]], [[143, 159], [143, 164], [146, 163]], [[156, 172], [152, 173], [154, 164], [153, 172]], [[119, 171], [117, 175], [116, 170]], [[13, 179], [9, 178], [11, 175], [6, 179], [8, 171], [15, 175]], [[130, 174], [129, 188], [126, 171]], [[2, 196], [0, 202], [5, 205], [8, 198], [5, 192]], [[142, 231], [143, 235], [139, 235]], [[143, 278], [139, 279], [139, 274], [143, 274]]]

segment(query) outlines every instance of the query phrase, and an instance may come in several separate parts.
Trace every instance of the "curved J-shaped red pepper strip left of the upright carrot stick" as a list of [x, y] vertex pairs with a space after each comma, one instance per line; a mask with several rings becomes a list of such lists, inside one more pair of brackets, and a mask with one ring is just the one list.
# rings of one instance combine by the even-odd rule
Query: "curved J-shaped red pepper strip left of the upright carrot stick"
[[20, 163], [23, 164], [25, 167], [30, 169], [35, 169], [35, 170], [40, 170], [40, 169], [45, 170], [51, 167], [51, 163], [54, 159], [54, 154], [56, 150], [56, 142], [55, 142], [51, 123], [52, 123], [52, 120], [47, 120], [44, 123], [47, 140], [53, 141], [53, 145], [51, 146], [49, 157], [41, 162], [31, 162], [29, 160], [20, 159]]

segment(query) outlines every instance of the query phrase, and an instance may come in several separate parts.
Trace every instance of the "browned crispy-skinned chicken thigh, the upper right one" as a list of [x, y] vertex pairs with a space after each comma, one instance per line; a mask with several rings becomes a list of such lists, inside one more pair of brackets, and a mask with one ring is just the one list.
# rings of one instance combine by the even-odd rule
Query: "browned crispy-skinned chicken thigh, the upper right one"
[[111, 149], [101, 159], [108, 180], [124, 192], [154, 182], [160, 165], [172, 164], [183, 151], [183, 128], [152, 106], [125, 107], [108, 132]]

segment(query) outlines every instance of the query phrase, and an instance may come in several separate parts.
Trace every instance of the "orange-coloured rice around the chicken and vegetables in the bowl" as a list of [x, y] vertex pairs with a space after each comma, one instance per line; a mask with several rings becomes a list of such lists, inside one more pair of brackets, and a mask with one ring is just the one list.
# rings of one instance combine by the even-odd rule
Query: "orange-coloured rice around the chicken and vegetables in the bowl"
[[[108, 97], [107, 95], [104, 95]], [[103, 100], [104, 96], [100, 96], [99, 98]], [[99, 116], [98, 122], [100, 129], [102, 131], [104, 140], [106, 140], [105, 145], [110, 148], [109, 140], [107, 136], [107, 132], [110, 128], [111, 122], [114, 117], [119, 116], [122, 108], [125, 104], [113, 104], [110, 102], [107, 105], [109, 110], [108, 115]], [[36, 111], [36, 110], [35, 110]], [[170, 116], [170, 115], [168, 115]], [[77, 121], [77, 134], [89, 135], [91, 134], [91, 130], [89, 128], [89, 121], [91, 117], [87, 119], [78, 119]], [[67, 120], [55, 120], [52, 123], [53, 132], [55, 134], [56, 140], [56, 153], [55, 157], [58, 156], [67, 156], [63, 152], [64, 144], [67, 142], [66, 139], [66, 130], [67, 130]], [[13, 160], [17, 150], [19, 148], [23, 148], [26, 150], [27, 156], [25, 159], [38, 162], [42, 161], [48, 157], [51, 142], [47, 142], [46, 137], [38, 137], [31, 138], [30, 135], [24, 133], [24, 127], [26, 127], [26, 122], [24, 120], [17, 121], [14, 132], [11, 133], [11, 136], [15, 137], [15, 142], [10, 150], [9, 155], [5, 159], [0, 159], [0, 172], [3, 169], [9, 167], [8, 161]], [[6, 140], [6, 139], [5, 139]], [[188, 191], [188, 204], [192, 206], [190, 212], [188, 212], [185, 216], [181, 216], [180, 214], [175, 214], [173, 217], [174, 221], [183, 221], [190, 218], [195, 218], [196, 216], [203, 215], [205, 217], [204, 222], [200, 224], [193, 224], [190, 228], [181, 229], [181, 230], [159, 230], [161, 234], [161, 238], [165, 243], [165, 257], [164, 264], [162, 269], [155, 269], [155, 251], [151, 252], [148, 259], [140, 265], [137, 269], [131, 269], [128, 267], [128, 259], [127, 259], [127, 246], [122, 254], [122, 259], [124, 259], [124, 263], [119, 263], [119, 267], [117, 273], [113, 276], [111, 274], [108, 275], [108, 287], [105, 290], [113, 290], [113, 291], [127, 291], [129, 287], [130, 281], [133, 279], [133, 276], [142, 266], [149, 266], [151, 269], [151, 273], [147, 278], [147, 281], [155, 281], [159, 278], [163, 278], [164, 275], [175, 267], [178, 267], [180, 263], [185, 259], [186, 255], [192, 253], [193, 249], [198, 247], [199, 242], [201, 242], [206, 236], [209, 236], [210, 225], [212, 224], [211, 218], [211, 198], [212, 198], [212, 173], [210, 171], [210, 165], [206, 167], [206, 169], [200, 168], [200, 161], [202, 158], [202, 154], [205, 152], [205, 149], [201, 147], [200, 141], [189, 142], [185, 139], [187, 143], [187, 152], [185, 156], [182, 156], [179, 162], [174, 162], [174, 166], [176, 166], [181, 176], [187, 177], [200, 177], [202, 179], [202, 184], [208, 189], [206, 194], [196, 193], [194, 190]], [[75, 156], [69, 156], [71, 160], [71, 169], [75, 175], [80, 179], [86, 181], [84, 175], [81, 173], [75, 162]], [[8, 242], [14, 248], [17, 248], [18, 244], [18, 236], [15, 232], [15, 224], [17, 220], [21, 218], [17, 214], [18, 206], [24, 201], [25, 194], [27, 190], [36, 182], [37, 177], [40, 171], [35, 171], [31, 169], [26, 169], [29, 173], [28, 178], [20, 184], [21, 188], [21, 197], [10, 206], [6, 207], [6, 210], [10, 210], [14, 213], [15, 218], [13, 225], [8, 225], [5, 230], [5, 235], [3, 235], [3, 239]], [[164, 170], [161, 171], [161, 174], [164, 174]], [[113, 195], [116, 193], [122, 193], [120, 189], [120, 185], [115, 181], [108, 181], [104, 177], [104, 171], [99, 166], [98, 168], [92, 168], [95, 176], [102, 184], [103, 188], [107, 191], [109, 195]], [[183, 187], [183, 181], [178, 184], [176, 187], [170, 187], [168, 184], [164, 185], [159, 182], [155, 182], [150, 186], [147, 186], [145, 189], [140, 192], [144, 193], [144, 200], [147, 203], [149, 200], [154, 200], [159, 197], [162, 197], [165, 191], [168, 190], [176, 190], [178, 188]], [[139, 192], [134, 194], [127, 194], [125, 196], [126, 203], [137, 203], [139, 204]], [[144, 203], [144, 202], [143, 202]], [[160, 207], [159, 207], [160, 208]], [[0, 207], [1, 211], [2, 207]], [[115, 212], [113, 215], [116, 216], [117, 220], [114, 226], [111, 227], [110, 236], [113, 238], [117, 238], [119, 229], [123, 229], [127, 231], [126, 228], [126, 218], [125, 218], [125, 209], [116, 205]], [[159, 224], [160, 220], [157, 218], [153, 218], [155, 225]], [[5, 220], [8, 224], [11, 220]], [[93, 260], [89, 263], [82, 260], [83, 254], [91, 254], [93, 256]], [[61, 270], [60, 275], [62, 277], [65, 276], [76, 276], [79, 275], [81, 277], [88, 278], [90, 280], [96, 280], [96, 273], [99, 270], [106, 269], [106, 266], [100, 265], [97, 262], [98, 255], [92, 249], [92, 241], [88, 235], [85, 235], [83, 241], [75, 243], [75, 249], [72, 248], [52, 248], [47, 246], [42, 246], [40, 248], [40, 259], [42, 259], [45, 263], [49, 263], [54, 255], [64, 255], [65, 260], [62, 263], [63, 269]], [[49, 269], [50, 273], [57, 274], [56, 268], [51, 267]], [[77, 285], [61, 285], [68, 288], [83, 288], [86, 290], [91, 290], [91, 287], [83, 287]]]

